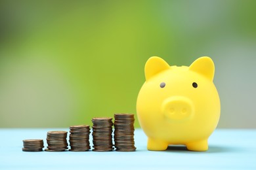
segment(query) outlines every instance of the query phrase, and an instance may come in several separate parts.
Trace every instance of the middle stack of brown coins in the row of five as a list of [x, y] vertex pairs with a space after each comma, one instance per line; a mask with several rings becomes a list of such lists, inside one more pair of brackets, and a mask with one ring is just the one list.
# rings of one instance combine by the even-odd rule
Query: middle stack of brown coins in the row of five
[[70, 126], [70, 151], [83, 152], [91, 149], [89, 143], [90, 127]]

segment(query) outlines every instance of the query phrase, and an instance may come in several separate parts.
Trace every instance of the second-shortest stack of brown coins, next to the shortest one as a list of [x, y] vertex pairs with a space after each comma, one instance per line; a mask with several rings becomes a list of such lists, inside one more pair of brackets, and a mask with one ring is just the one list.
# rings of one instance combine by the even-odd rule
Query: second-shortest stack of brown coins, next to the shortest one
[[45, 151], [59, 152], [68, 148], [67, 143], [68, 131], [48, 131], [47, 133], [47, 149]]

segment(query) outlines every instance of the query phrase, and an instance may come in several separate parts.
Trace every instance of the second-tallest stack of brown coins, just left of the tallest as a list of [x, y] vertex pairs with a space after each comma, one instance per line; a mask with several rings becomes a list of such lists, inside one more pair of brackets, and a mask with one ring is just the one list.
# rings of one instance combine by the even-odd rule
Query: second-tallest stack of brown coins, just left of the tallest
[[112, 118], [93, 118], [93, 151], [111, 151]]

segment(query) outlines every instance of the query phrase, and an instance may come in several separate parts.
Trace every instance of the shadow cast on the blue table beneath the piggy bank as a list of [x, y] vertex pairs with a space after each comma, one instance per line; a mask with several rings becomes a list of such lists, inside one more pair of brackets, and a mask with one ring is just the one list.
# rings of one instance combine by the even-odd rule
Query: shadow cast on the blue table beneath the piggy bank
[[184, 145], [169, 145], [165, 152], [191, 152], [191, 153], [218, 153], [218, 152], [233, 152], [234, 149], [224, 146], [210, 145], [206, 152], [194, 152], [190, 151]]

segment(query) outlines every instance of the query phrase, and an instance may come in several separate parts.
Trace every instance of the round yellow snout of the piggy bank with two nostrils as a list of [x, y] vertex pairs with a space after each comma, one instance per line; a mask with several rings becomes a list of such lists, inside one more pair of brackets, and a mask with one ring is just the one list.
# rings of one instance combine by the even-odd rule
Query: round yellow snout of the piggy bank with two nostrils
[[194, 105], [187, 97], [173, 96], [163, 101], [162, 112], [169, 120], [186, 120], [194, 114]]

